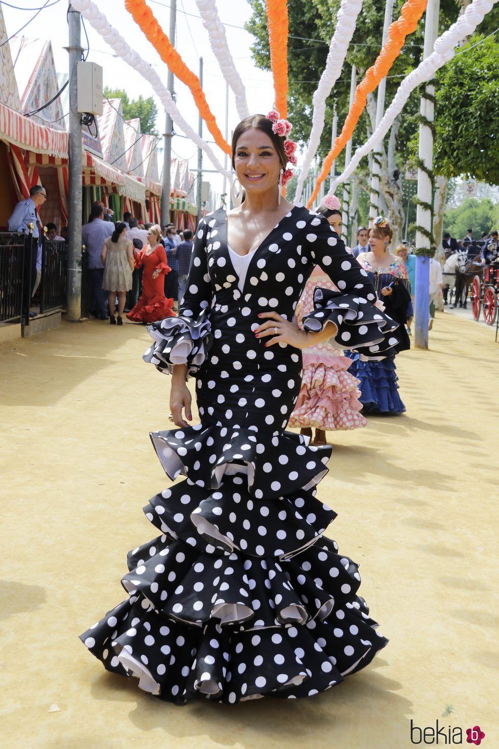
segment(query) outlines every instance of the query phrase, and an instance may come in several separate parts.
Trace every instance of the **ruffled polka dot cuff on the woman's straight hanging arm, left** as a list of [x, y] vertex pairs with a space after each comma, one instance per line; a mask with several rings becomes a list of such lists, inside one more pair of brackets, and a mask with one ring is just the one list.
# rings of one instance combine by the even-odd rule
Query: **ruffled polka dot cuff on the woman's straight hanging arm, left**
[[165, 318], [148, 325], [147, 331], [154, 343], [142, 358], [165, 374], [171, 375], [175, 364], [186, 364], [189, 375], [195, 375], [212, 345], [209, 309], [203, 309], [196, 320]]

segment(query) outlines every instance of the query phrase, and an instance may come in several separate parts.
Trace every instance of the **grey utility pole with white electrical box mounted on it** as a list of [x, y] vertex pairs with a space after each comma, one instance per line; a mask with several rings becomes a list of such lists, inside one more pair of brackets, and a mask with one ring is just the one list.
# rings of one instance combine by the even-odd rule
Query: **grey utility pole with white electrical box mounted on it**
[[70, 73], [70, 119], [69, 119], [69, 195], [67, 205], [68, 249], [66, 303], [67, 318], [82, 317], [82, 115], [78, 112], [78, 82], [76, 63], [82, 59], [80, 38], [80, 14], [69, 6], [69, 73]]

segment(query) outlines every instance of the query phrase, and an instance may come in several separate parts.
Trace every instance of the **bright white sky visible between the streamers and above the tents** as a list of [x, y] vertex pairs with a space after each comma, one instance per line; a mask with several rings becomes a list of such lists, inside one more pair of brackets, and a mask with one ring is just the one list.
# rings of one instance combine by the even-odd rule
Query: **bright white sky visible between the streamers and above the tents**
[[[36, 9], [43, 5], [43, 0], [9, 0], [9, 2], [11, 5], [31, 9], [16, 10], [1, 2], [7, 34], [11, 37], [34, 16]], [[107, 16], [111, 25], [115, 25], [126, 42], [134, 47], [147, 62], [153, 64], [166, 85], [167, 67], [159, 58], [158, 53], [147, 40], [141, 28], [135, 24], [132, 16], [125, 10], [124, 0], [97, 0], [95, 4]], [[168, 0], [162, 2], [148, 0], [148, 4], [150, 4], [163, 30], [168, 34], [170, 25], [170, 4]], [[251, 16], [251, 7], [245, 0], [218, 0], [217, 7], [218, 16], [225, 25], [230, 52], [245, 84], [248, 108], [250, 112], [267, 112], [272, 107], [274, 100], [272, 75], [255, 67], [250, 50], [254, 37], [243, 28], [245, 22]], [[26, 37], [41, 37], [52, 40], [55, 67], [58, 73], [67, 72], [68, 69], [68, 56], [64, 49], [64, 46], [67, 46], [68, 43], [66, 12], [66, 0], [49, 0], [48, 7], [41, 10], [37, 17], [20, 32]], [[153, 96], [159, 110], [156, 127], [159, 133], [164, 132], [165, 110], [162, 108], [159, 98], [150, 88], [150, 84], [126, 62], [114, 57], [114, 50], [105, 43], [97, 31], [94, 31], [89, 22], [85, 22], [85, 27], [90, 46], [88, 60], [97, 62], [102, 66], [104, 85], [110, 88], [125, 88], [131, 99], [136, 99], [140, 94], [144, 98]], [[85, 45], [85, 33], [82, 30], [82, 46]], [[203, 91], [215, 115], [218, 127], [224, 133], [226, 84], [209, 45], [208, 32], [203, 27], [195, 0], [177, 0], [175, 46], [186, 65], [197, 75], [199, 58], [203, 57]], [[177, 79], [175, 79], [174, 88], [177, 93], [177, 106], [180, 112], [197, 132], [198, 109], [189, 88]], [[22, 94], [22, 91], [19, 93]], [[238, 121], [239, 117], [236, 112], [233, 92], [229, 90], [229, 138], [230, 131], [233, 130]], [[175, 130], [177, 133], [181, 133], [178, 128], [175, 128]], [[207, 130], [206, 124], [203, 124], [203, 138], [212, 141], [212, 136]], [[216, 145], [210, 145], [212, 145], [218, 160], [223, 164], [224, 154]], [[172, 141], [172, 149], [174, 155], [189, 160], [191, 169], [196, 168], [198, 149], [194, 143], [177, 135], [174, 136]], [[207, 157], [203, 157], [203, 168], [213, 169]], [[218, 175], [209, 174], [204, 179], [212, 182], [216, 192], [221, 192], [221, 178]]]

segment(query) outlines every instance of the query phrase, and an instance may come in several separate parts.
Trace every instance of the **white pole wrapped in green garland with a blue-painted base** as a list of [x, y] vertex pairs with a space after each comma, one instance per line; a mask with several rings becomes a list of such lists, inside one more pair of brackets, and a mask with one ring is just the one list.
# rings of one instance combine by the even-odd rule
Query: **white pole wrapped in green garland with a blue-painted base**
[[[440, 11], [440, 0], [429, 0], [426, 7], [424, 21], [424, 51], [423, 60], [432, 54], [433, 46], [438, 34], [438, 13]], [[426, 85], [426, 94], [435, 95], [435, 87]], [[433, 121], [433, 102], [426, 97], [421, 97], [420, 115], [430, 122]], [[423, 122], [419, 126], [419, 158], [425, 169], [417, 169], [417, 198], [424, 204], [432, 204], [432, 181], [426, 173], [432, 172], [433, 168], [433, 134]], [[428, 207], [417, 203], [416, 224], [425, 228], [429, 233], [432, 231], [432, 212]], [[429, 249], [430, 241], [426, 234], [416, 231], [417, 250]], [[416, 291], [415, 291], [415, 326], [414, 345], [416, 348], [428, 348], [428, 321], [429, 321], [429, 256], [416, 256]]]

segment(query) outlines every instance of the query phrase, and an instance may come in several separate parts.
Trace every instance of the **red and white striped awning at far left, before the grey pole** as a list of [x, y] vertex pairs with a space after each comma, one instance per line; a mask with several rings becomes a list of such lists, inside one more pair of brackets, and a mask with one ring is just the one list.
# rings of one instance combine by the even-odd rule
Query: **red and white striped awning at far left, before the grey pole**
[[0, 103], [0, 139], [35, 154], [67, 159], [70, 136], [65, 130], [52, 130]]

